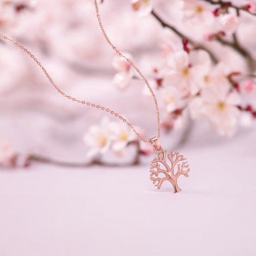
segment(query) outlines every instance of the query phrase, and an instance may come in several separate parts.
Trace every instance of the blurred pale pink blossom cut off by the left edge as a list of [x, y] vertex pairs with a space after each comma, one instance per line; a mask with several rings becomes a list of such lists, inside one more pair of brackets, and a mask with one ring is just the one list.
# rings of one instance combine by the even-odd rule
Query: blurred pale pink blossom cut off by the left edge
[[16, 158], [16, 151], [7, 139], [0, 139], [0, 164], [12, 164]]

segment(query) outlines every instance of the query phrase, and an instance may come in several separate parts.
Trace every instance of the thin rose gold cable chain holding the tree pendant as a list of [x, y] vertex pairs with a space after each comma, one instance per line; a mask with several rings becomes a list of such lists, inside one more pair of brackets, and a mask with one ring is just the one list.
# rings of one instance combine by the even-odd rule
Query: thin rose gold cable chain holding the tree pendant
[[[151, 86], [149, 85], [148, 81], [146, 80], [146, 77], [141, 73], [141, 71], [134, 65], [133, 61], [131, 61], [130, 59], [128, 59], [127, 57], [125, 57], [119, 49], [117, 49], [111, 42], [110, 42], [110, 39], [109, 37], [107, 36], [104, 28], [103, 28], [103, 25], [101, 23], [101, 19], [100, 19], [100, 15], [99, 15], [99, 8], [98, 8], [98, 3], [97, 3], [97, 0], [94, 1], [94, 4], [95, 4], [95, 8], [96, 8], [96, 13], [97, 13], [97, 18], [98, 18], [98, 24], [100, 26], [100, 29], [105, 37], [105, 39], [107, 40], [107, 42], [110, 44], [110, 46], [112, 47], [112, 49], [114, 49], [116, 51], [117, 54], [119, 54], [120, 57], [124, 58], [133, 68], [134, 70], [139, 74], [139, 76], [144, 80], [144, 82], [146, 83], [146, 86], [148, 87], [153, 99], [154, 99], [154, 102], [155, 102], [155, 107], [156, 107], [156, 110], [157, 110], [157, 121], [158, 121], [158, 135], [157, 137], [159, 138], [160, 137], [160, 113], [159, 113], [159, 108], [158, 108], [158, 102], [157, 102], [157, 98], [156, 98], [156, 95], [155, 93], [153, 92]], [[91, 106], [93, 108], [97, 108], [97, 109], [100, 109], [100, 110], [104, 110], [106, 112], [109, 112], [110, 114], [112, 115], [115, 115], [116, 117], [118, 117], [119, 119], [121, 119], [124, 123], [126, 123], [128, 126], [131, 127], [131, 129], [134, 131], [134, 133], [144, 142], [151, 142], [150, 139], [146, 140], [142, 137], [141, 134], [139, 134], [133, 127], [133, 125], [128, 122], [125, 118], [123, 118], [121, 115], [119, 115], [117, 112], [113, 111], [113, 110], [110, 110], [108, 108], [105, 108], [103, 106], [100, 106], [100, 105], [96, 105], [94, 103], [91, 103], [89, 101], [84, 101], [84, 100], [79, 100], [75, 97], [72, 97], [72, 96], [69, 96], [69, 95], [66, 95], [64, 92], [61, 91], [61, 89], [55, 85], [55, 83], [53, 82], [53, 80], [51, 79], [51, 77], [49, 76], [49, 73], [46, 71], [46, 69], [43, 67], [43, 65], [41, 64], [40, 61], [37, 60], [37, 58], [35, 57], [35, 55], [33, 55], [31, 53], [31, 51], [29, 51], [28, 49], [26, 49], [24, 46], [22, 46], [20, 43], [18, 42], [15, 42], [14, 40], [12, 40], [11, 38], [9, 37], [6, 37], [6, 36], [3, 36], [2, 34], [0, 34], [0, 37], [9, 41], [9, 42], [12, 42], [13, 44], [15, 44], [16, 46], [18, 46], [20, 49], [24, 50], [24, 52], [26, 52], [36, 63], [37, 65], [42, 69], [42, 71], [45, 73], [45, 75], [47, 76], [49, 82], [54, 86], [54, 88], [62, 95], [64, 96], [65, 98], [68, 98], [68, 99], [72, 99], [73, 101], [76, 101], [77, 103], [82, 103], [84, 105], [87, 105], [87, 106]]]

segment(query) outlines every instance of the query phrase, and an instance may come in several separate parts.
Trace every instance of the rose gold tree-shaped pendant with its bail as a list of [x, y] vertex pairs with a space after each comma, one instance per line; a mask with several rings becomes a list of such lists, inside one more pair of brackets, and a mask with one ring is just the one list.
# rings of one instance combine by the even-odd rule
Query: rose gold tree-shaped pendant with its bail
[[[157, 137], [152, 138], [151, 144], [155, 147], [157, 157], [151, 161], [150, 166], [150, 180], [155, 184], [155, 186], [160, 189], [164, 181], [169, 181], [173, 186], [173, 193], [181, 192], [177, 184], [177, 179], [180, 175], [188, 177], [188, 164], [186, 158], [183, 157], [179, 152], [168, 150], [163, 150]], [[169, 160], [170, 163], [167, 162]], [[183, 162], [182, 162], [183, 161]], [[182, 162], [182, 164], [178, 164]], [[178, 164], [178, 165], [177, 165]], [[159, 174], [161, 177], [159, 177]]]

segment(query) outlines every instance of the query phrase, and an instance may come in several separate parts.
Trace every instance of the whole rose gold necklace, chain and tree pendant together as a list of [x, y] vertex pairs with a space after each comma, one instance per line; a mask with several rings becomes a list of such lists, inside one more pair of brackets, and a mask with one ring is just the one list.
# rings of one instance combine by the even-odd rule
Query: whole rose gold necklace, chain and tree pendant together
[[[84, 100], [79, 100], [77, 98], [74, 98], [72, 96], [66, 95], [64, 92], [61, 91], [61, 89], [55, 85], [55, 83], [53, 82], [53, 80], [51, 79], [51, 77], [49, 76], [48, 72], [46, 71], [46, 69], [43, 67], [43, 65], [37, 60], [37, 58], [31, 53], [31, 51], [29, 51], [28, 49], [26, 49], [24, 46], [22, 46], [20, 43], [12, 40], [9, 37], [3, 36], [2, 34], [0, 34], [0, 37], [12, 42], [13, 44], [15, 44], [16, 46], [18, 46], [20, 49], [24, 50], [24, 52], [26, 52], [36, 63], [37, 65], [43, 70], [43, 72], [45, 73], [45, 75], [47, 76], [48, 80], [50, 81], [50, 83], [54, 86], [54, 88], [65, 98], [68, 99], [72, 99], [73, 101], [76, 101], [78, 103], [82, 103], [84, 105], [87, 106], [91, 106], [93, 108], [97, 108], [100, 110], [104, 110], [106, 112], [110, 112], [110, 114], [115, 115], [116, 117], [118, 117], [119, 119], [121, 119], [124, 123], [126, 123], [128, 126], [131, 127], [131, 129], [134, 131], [134, 133], [144, 142], [150, 142], [154, 147], [155, 147], [155, 151], [157, 153], [157, 157], [154, 158], [151, 161], [151, 167], [150, 167], [150, 179], [153, 181], [153, 183], [155, 184], [155, 186], [160, 189], [162, 183], [164, 181], [169, 181], [171, 182], [172, 186], [173, 186], [173, 193], [177, 193], [180, 192], [181, 189], [179, 188], [178, 184], [177, 184], [177, 179], [180, 175], [184, 175], [186, 177], [188, 177], [188, 172], [190, 171], [190, 169], [188, 168], [188, 164], [187, 162], [184, 162], [183, 160], [185, 160], [186, 158], [184, 158], [180, 153], [176, 152], [176, 151], [171, 151], [171, 153], [168, 154], [167, 150], [163, 150], [160, 142], [158, 140], [158, 138], [160, 137], [160, 113], [159, 113], [159, 108], [158, 108], [158, 101], [156, 98], [156, 95], [154, 93], [154, 91], [152, 90], [151, 86], [149, 85], [148, 81], [146, 80], [146, 77], [141, 73], [141, 71], [134, 65], [133, 61], [131, 61], [130, 59], [128, 59], [127, 57], [125, 57], [119, 49], [117, 49], [111, 42], [109, 37], [107, 36], [103, 25], [101, 23], [101, 19], [100, 19], [100, 15], [99, 15], [99, 8], [98, 8], [98, 2], [97, 0], [94, 0], [94, 4], [95, 4], [95, 8], [96, 8], [96, 14], [97, 14], [97, 18], [98, 18], [98, 24], [100, 26], [100, 29], [105, 37], [105, 39], [107, 40], [107, 42], [110, 44], [110, 46], [112, 47], [112, 49], [114, 49], [116, 51], [117, 54], [119, 54], [120, 57], [124, 58], [133, 68], [134, 70], [139, 74], [139, 76], [144, 80], [144, 82], [146, 83], [146, 86], [148, 87], [153, 99], [154, 99], [154, 103], [155, 103], [155, 107], [156, 107], [156, 111], [157, 111], [157, 122], [158, 122], [158, 134], [157, 136], [151, 138], [151, 139], [145, 139], [142, 137], [141, 134], [139, 134], [133, 127], [133, 125], [128, 122], [126, 119], [124, 119], [121, 115], [119, 115], [117, 112], [110, 110], [108, 108], [102, 107], [100, 105], [96, 105], [94, 103], [88, 102], [88, 101], [84, 101]], [[170, 164], [168, 164], [167, 162], [167, 158], [169, 159]], [[178, 162], [183, 161], [182, 165], [178, 164]], [[177, 165], [177, 168], [175, 168]], [[164, 168], [164, 169], [162, 169]], [[183, 170], [185, 169], [185, 171]], [[158, 177], [159, 173], [163, 173], [165, 174], [165, 177]]]

